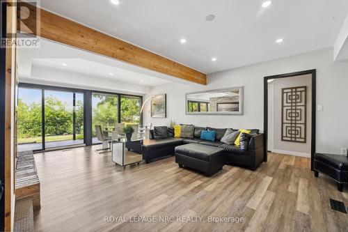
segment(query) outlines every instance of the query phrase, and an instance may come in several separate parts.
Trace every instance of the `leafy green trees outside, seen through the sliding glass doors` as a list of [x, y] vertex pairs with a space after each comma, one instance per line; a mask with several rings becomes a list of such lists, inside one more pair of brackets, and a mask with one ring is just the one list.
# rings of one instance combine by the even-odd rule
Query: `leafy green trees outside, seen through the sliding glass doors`
[[[121, 122], [134, 124], [140, 122], [141, 99], [122, 96]], [[17, 107], [17, 136], [18, 143], [42, 142], [42, 109], [38, 102], [26, 103], [19, 98]], [[93, 136], [94, 125], [102, 125], [112, 130], [118, 123], [118, 96], [93, 93]], [[45, 98], [45, 140], [72, 140], [73, 110], [54, 95]], [[84, 102], [76, 101], [75, 107], [76, 139], [84, 139]]]

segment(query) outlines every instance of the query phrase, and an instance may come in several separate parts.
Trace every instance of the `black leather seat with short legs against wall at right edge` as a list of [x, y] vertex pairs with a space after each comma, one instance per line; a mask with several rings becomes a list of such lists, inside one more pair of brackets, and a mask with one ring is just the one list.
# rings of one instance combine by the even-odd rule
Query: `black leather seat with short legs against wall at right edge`
[[319, 172], [337, 182], [338, 191], [343, 191], [343, 185], [348, 183], [348, 157], [343, 155], [331, 155], [315, 153], [314, 175]]

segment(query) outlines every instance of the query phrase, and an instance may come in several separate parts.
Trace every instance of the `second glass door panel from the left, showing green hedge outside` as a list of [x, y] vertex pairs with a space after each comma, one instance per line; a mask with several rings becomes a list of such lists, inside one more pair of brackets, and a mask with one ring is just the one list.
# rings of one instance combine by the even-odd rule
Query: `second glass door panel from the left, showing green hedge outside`
[[84, 93], [45, 90], [45, 148], [84, 144]]

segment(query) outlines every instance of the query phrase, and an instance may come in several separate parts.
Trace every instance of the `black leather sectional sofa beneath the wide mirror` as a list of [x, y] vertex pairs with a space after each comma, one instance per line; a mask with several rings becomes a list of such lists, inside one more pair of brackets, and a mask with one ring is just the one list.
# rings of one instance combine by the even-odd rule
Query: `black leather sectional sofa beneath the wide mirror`
[[[201, 130], [216, 130], [216, 140], [206, 141], [200, 139]], [[143, 160], [146, 163], [152, 160], [175, 155], [175, 147], [183, 144], [200, 144], [204, 146], [214, 146], [223, 149], [224, 161], [226, 164], [237, 164], [248, 167], [255, 171], [264, 160], [264, 136], [258, 133], [258, 130], [252, 130], [252, 135], [248, 148], [243, 150], [239, 146], [223, 144], [220, 139], [227, 129], [215, 129], [211, 127], [195, 127], [193, 138], [175, 138], [155, 139], [153, 130], [150, 131], [150, 139], [143, 144]]]

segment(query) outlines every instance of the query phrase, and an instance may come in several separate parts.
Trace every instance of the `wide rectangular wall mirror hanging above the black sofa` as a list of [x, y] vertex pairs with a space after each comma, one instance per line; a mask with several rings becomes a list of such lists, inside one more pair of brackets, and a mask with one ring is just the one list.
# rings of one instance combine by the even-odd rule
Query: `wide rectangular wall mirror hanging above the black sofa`
[[187, 93], [186, 114], [243, 114], [243, 86]]

